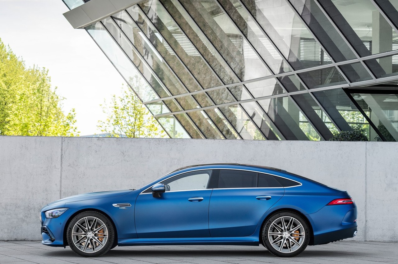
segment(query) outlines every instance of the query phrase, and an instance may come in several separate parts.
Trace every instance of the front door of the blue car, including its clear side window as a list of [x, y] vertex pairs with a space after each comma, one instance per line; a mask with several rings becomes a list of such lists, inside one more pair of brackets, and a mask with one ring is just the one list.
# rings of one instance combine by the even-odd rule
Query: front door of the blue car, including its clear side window
[[211, 170], [193, 171], [164, 180], [166, 192], [139, 194], [135, 226], [139, 238], [209, 237]]

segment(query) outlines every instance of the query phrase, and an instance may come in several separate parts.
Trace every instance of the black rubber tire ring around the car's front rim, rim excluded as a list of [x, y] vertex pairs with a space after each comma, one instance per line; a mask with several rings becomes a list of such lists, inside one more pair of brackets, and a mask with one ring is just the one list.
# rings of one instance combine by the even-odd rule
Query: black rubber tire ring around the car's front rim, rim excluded
[[[101, 221], [103, 221], [106, 228], [108, 229], [108, 239], [107, 239], [105, 245], [100, 250], [93, 252], [93, 253], [81, 251], [74, 245], [73, 240], [72, 240], [72, 229], [73, 229], [74, 225], [76, 224], [76, 222], [78, 222], [80, 219], [82, 219], [84, 217], [97, 217]], [[100, 212], [96, 212], [96, 211], [86, 211], [86, 212], [82, 212], [82, 213], [76, 215], [75, 217], [73, 217], [72, 221], [70, 221], [70, 223], [68, 225], [68, 229], [66, 230], [66, 238], [67, 238], [69, 247], [76, 254], [78, 254], [80, 256], [84, 256], [84, 257], [98, 257], [98, 256], [101, 256], [102, 254], [105, 254], [106, 252], [108, 252], [111, 249], [111, 247], [114, 245], [115, 228], [113, 227], [113, 223], [111, 222], [111, 220], [106, 215], [101, 214]]]

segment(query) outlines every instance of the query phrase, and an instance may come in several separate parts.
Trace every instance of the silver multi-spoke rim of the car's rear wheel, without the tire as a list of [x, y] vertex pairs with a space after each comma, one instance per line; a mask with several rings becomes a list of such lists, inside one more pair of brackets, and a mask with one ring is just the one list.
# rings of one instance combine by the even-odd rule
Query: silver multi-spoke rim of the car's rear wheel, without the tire
[[268, 240], [275, 250], [282, 253], [295, 252], [305, 240], [304, 227], [295, 217], [282, 216], [269, 225]]

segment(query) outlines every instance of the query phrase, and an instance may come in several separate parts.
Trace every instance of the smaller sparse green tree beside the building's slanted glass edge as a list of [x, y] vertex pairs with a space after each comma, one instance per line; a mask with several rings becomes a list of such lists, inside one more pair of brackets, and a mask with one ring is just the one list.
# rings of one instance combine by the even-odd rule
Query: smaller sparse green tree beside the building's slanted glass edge
[[[140, 85], [139, 78], [133, 78], [136, 87]], [[106, 100], [101, 105], [103, 113], [107, 115], [105, 121], [98, 121], [98, 128], [107, 137], [128, 138], [168, 138], [156, 119], [150, 115], [148, 109], [128, 87], [122, 87], [122, 96], [113, 95], [110, 105]]]

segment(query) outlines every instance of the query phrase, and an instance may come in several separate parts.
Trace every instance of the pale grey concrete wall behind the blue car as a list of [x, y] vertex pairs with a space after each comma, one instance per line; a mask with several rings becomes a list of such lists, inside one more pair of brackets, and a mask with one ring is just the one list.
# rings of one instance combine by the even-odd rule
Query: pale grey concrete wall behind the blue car
[[0, 136], [0, 240], [40, 240], [42, 206], [74, 194], [139, 188], [186, 165], [277, 167], [348, 190], [353, 240], [398, 241], [398, 143]]

